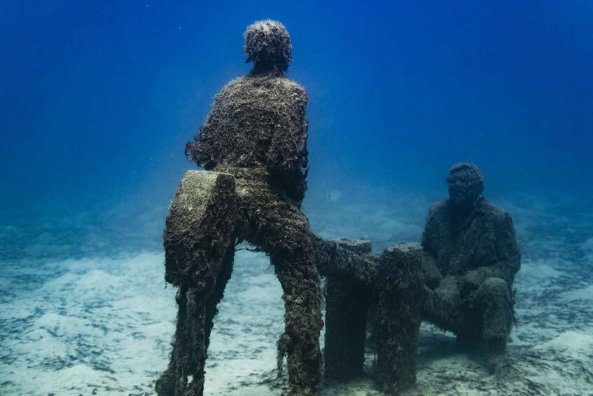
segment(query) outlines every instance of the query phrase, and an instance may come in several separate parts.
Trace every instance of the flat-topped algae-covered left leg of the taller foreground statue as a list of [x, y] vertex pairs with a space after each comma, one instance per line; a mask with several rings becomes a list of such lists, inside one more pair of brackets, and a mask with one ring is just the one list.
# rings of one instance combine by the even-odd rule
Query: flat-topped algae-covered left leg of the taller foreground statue
[[218, 172], [183, 175], [167, 216], [165, 280], [179, 287], [169, 367], [158, 395], [202, 395], [212, 319], [232, 271], [235, 179]]

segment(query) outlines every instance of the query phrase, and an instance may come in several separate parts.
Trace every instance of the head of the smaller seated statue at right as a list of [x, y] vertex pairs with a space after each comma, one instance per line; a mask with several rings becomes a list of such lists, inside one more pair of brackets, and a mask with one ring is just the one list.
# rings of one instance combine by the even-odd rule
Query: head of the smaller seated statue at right
[[475, 163], [456, 163], [447, 176], [449, 197], [456, 207], [473, 207], [484, 191], [484, 174]]

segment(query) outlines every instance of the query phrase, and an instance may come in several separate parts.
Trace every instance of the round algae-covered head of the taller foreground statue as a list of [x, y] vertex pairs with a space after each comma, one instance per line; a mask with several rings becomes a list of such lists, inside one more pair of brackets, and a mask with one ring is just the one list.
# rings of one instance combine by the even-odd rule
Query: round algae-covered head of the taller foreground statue
[[260, 20], [249, 25], [244, 33], [246, 62], [253, 62], [251, 74], [286, 73], [293, 60], [291, 36], [280, 22]]

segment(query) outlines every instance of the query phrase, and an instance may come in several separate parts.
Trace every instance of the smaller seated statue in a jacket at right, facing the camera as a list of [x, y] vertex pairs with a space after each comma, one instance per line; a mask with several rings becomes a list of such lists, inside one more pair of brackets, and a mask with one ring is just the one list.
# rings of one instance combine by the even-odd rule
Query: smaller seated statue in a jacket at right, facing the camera
[[453, 165], [447, 183], [449, 199], [431, 206], [422, 235], [422, 316], [456, 334], [461, 345], [486, 341], [489, 371], [500, 373], [508, 368], [512, 282], [521, 266], [515, 228], [482, 195], [484, 175], [475, 164]]

